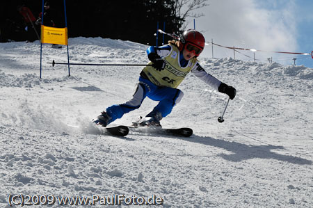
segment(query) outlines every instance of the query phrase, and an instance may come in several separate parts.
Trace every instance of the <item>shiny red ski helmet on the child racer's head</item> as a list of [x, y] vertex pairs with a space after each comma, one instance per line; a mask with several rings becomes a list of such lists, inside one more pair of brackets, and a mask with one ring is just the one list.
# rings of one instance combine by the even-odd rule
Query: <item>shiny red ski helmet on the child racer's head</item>
[[189, 44], [198, 48], [193, 50], [196, 55], [195, 57], [198, 57], [204, 49], [205, 39], [200, 32], [188, 29], [179, 37], [179, 51], [182, 51], [183, 49], [190, 51], [190, 49], [188, 49]]

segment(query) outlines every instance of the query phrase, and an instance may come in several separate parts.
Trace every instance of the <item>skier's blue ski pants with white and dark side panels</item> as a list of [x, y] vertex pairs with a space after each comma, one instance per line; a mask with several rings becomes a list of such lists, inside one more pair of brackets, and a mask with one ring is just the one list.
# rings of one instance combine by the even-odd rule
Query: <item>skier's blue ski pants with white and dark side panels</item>
[[111, 117], [109, 122], [113, 122], [118, 118], [122, 118], [125, 113], [138, 109], [143, 103], [145, 97], [149, 97], [159, 104], [154, 107], [153, 111], [159, 111], [163, 117], [170, 114], [175, 104], [179, 103], [184, 93], [176, 88], [159, 87], [148, 79], [139, 77], [136, 92], [133, 97], [124, 104], [110, 106], [106, 109], [106, 113]]

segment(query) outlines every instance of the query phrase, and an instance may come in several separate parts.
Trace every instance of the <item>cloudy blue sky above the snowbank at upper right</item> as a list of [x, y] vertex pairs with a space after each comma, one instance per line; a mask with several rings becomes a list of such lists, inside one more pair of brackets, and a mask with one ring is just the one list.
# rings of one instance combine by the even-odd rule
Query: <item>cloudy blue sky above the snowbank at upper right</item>
[[[186, 19], [186, 29], [202, 32], [206, 41], [227, 47], [264, 51], [312, 53], [312, 0], [208, 0], [195, 13], [204, 16]], [[272, 52], [238, 50], [236, 58], [246, 61], [273, 62], [283, 65], [305, 65], [313, 68], [311, 55], [278, 54]], [[243, 55], [244, 54], [244, 55]], [[232, 57], [234, 51], [213, 47], [214, 58]], [[246, 55], [246, 56], [245, 56]], [[212, 45], [206, 46], [201, 56], [212, 57]], [[250, 56], [247, 57], [247, 56]], [[294, 62], [294, 58], [297, 58]]]

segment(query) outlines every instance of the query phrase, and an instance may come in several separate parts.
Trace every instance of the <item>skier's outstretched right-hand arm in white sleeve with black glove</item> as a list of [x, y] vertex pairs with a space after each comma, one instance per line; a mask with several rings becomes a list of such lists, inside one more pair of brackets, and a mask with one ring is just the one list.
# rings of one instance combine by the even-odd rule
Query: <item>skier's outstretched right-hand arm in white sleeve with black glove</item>
[[193, 74], [195, 74], [195, 77], [198, 77], [205, 83], [207, 83], [209, 86], [214, 88], [215, 90], [218, 90], [220, 93], [225, 93], [226, 95], [230, 96], [230, 99], [234, 99], [236, 96], [236, 89], [232, 86], [227, 86], [226, 83], [223, 83], [213, 77], [211, 74], [208, 74], [205, 72], [205, 70], [201, 67], [199, 63], [195, 64], [195, 67], [191, 70]]

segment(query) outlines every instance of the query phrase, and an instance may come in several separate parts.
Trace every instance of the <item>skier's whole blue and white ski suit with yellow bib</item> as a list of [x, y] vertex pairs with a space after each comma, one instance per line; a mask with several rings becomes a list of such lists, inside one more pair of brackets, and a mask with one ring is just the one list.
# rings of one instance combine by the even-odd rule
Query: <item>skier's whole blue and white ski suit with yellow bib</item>
[[[149, 47], [147, 54], [150, 53], [157, 53], [161, 56], [166, 62], [166, 67], [161, 71], [156, 70], [152, 66], [145, 67], [141, 72], [133, 97], [124, 104], [113, 105], [106, 109], [106, 113], [111, 117], [109, 122], [122, 118], [125, 113], [138, 109], [145, 97], [159, 101], [159, 104], [154, 107], [153, 111], [159, 111], [162, 118], [166, 117], [184, 96], [184, 93], [177, 89], [177, 86], [179, 86], [179, 83], [182, 82], [188, 72], [193, 72], [195, 77], [218, 90], [221, 81], [207, 74], [196, 58], [186, 61], [182, 51], [179, 51], [175, 45], [168, 44], [161, 47]], [[152, 62], [148, 63], [148, 65], [152, 65]]]

